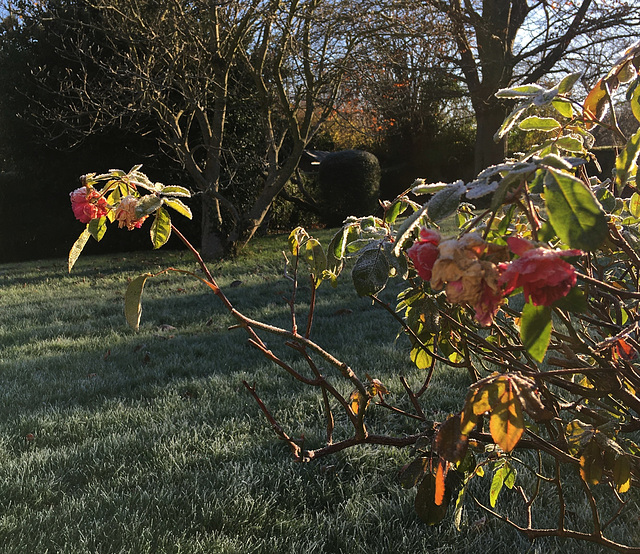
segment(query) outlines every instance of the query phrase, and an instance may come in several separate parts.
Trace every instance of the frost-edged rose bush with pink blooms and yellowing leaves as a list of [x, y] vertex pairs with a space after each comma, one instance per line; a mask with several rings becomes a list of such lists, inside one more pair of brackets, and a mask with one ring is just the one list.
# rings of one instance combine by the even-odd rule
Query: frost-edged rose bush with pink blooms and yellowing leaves
[[[528, 152], [485, 169], [470, 183], [417, 181], [407, 194], [383, 202], [380, 216], [348, 218], [326, 246], [295, 229], [286, 271], [293, 282], [290, 329], [253, 320], [229, 301], [165, 209], [189, 216], [175, 198], [188, 191], [151, 183], [139, 168], [85, 177], [85, 187], [102, 188], [98, 196], [89, 188], [75, 201], [72, 196], [81, 221], [87, 214], [94, 217], [71, 250], [69, 268], [91, 236], [101, 238], [107, 223], [135, 228], [153, 217], [154, 246], [176, 233], [200, 264], [202, 273], [191, 275], [222, 301], [249, 343], [318, 391], [326, 440], [314, 448], [293, 438], [259, 391], [244, 383], [296, 460], [362, 444], [410, 447], [414, 459], [399, 479], [403, 487], [417, 488], [416, 511], [427, 524], [442, 521], [450, 504], [456, 525], [463, 524], [471, 497], [531, 539], [557, 536], [638, 552], [606, 533], [627, 512], [637, 518], [637, 496], [630, 491], [640, 483], [640, 130], [627, 139], [615, 119], [604, 121], [603, 114], [612, 104], [610, 95], [629, 84], [627, 99], [640, 121], [639, 69], [640, 44], [623, 54], [583, 103], [571, 97], [578, 74], [548, 89], [527, 84], [499, 91], [516, 106], [498, 138], [516, 124], [544, 136]], [[532, 113], [536, 110], [544, 113]], [[604, 180], [590, 176], [586, 167], [593, 159], [594, 126], [624, 138], [615, 173]], [[140, 189], [147, 194], [139, 196]], [[479, 198], [488, 207], [469, 203]], [[106, 212], [99, 199], [108, 203]], [[425, 373], [419, 387], [402, 375], [396, 388], [368, 373], [363, 378], [312, 340], [318, 287], [323, 281], [336, 285], [345, 267], [356, 292], [398, 321], [410, 359]], [[307, 324], [299, 328], [296, 291], [305, 271], [311, 299], [305, 305]], [[134, 329], [144, 285], [153, 276], [141, 275], [127, 289], [125, 313]], [[381, 295], [391, 279], [404, 287], [395, 306]], [[258, 332], [282, 339], [306, 369], [274, 353]], [[460, 411], [434, 422], [421, 398], [433, 372], [447, 368], [467, 371], [471, 383]], [[413, 434], [376, 429], [376, 419], [367, 417], [374, 409], [390, 410], [420, 429]], [[336, 411], [350, 436], [341, 430], [334, 437]], [[378, 425], [380, 420], [385, 418]], [[529, 452], [534, 455], [527, 457]], [[491, 479], [488, 501], [474, 492], [483, 476]], [[572, 479], [580, 492], [574, 488], [567, 494]], [[504, 488], [522, 500], [516, 517], [502, 516], [496, 507]], [[607, 494], [618, 504], [603, 523], [599, 506]], [[536, 527], [539, 503], [546, 512], [557, 511], [556, 527]], [[585, 506], [590, 522], [569, 519]]]

